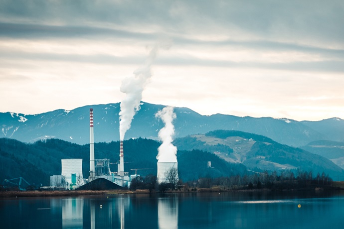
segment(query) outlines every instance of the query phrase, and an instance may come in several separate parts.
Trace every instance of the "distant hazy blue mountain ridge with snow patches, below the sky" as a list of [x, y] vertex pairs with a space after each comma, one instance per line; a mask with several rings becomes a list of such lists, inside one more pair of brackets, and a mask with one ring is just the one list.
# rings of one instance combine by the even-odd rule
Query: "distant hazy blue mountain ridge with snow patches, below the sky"
[[[126, 139], [158, 139], [158, 132], [164, 123], [155, 114], [164, 107], [142, 102], [140, 111], [134, 116], [131, 128], [125, 135]], [[119, 103], [34, 115], [0, 113], [0, 137], [31, 143], [39, 139], [58, 138], [72, 143], [87, 144], [90, 108], [93, 108], [94, 113], [95, 142], [119, 140]], [[315, 140], [344, 140], [344, 120], [340, 118], [296, 121], [287, 118], [238, 117], [225, 114], [200, 115], [187, 108], [175, 108], [174, 112], [175, 137], [224, 129], [264, 135], [290, 146], [302, 146]]]

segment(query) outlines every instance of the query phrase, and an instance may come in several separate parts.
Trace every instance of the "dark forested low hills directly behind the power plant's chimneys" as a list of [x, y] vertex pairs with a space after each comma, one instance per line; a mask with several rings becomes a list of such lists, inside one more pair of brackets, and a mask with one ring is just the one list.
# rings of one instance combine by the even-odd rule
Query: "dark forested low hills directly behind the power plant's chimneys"
[[[146, 176], [157, 174], [158, 147], [160, 143], [144, 138], [124, 141], [125, 172]], [[120, 142], [100, 142], [94, 144], [95, 159], [110, 159], [111, 171], [117, 171]], [[61, 174], [61, 159], [82, 158], [83, 176], [89, 175], [89, 144], [78, 145], [59, 139], [46, 139], [34, 143], [22, 143], [8, 138], [0, 138], [0, 182], [4, 179], [23, 177], [30, 184], [49, 184], [49, 176]], [[178, 151], [180, 179], [188, 181], [199, 177], [218, 177], [246, 172], [243, 165], [232, 164], [205, 151]], [[207, 168], [211, 161], [213, 168]]]

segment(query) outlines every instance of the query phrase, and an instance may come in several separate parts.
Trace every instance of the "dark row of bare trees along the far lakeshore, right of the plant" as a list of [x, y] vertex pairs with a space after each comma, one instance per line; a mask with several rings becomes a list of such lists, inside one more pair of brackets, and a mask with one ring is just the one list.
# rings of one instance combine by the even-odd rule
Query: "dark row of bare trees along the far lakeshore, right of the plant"
[[[295, 174], [295, 173], [296, 174]], [[171, 173], [170, 173], [171, 174]], [[291, 189], [308, 189], [315, 187], [326, 187], [332, 184], [332, 179], [328, 174], [313, 173], [302, 171], [301, 169], [292, 171], [285, 170], [262, 173], [235, 175], [228, 177], [202, 177], [197, 180], [183, 182], [175, 181], [168, 178], [166, 183], [157, 183], [155, 175], [146, 177], [137, 177], [132, 180], [130, 190], [148, 189], [150, 192], [165, 192], [167, 190], [196, 191], [197, 189], [212, 189], [228, 191], [228, 190], [253, 190], [253, 189], [269, 189], [269, 190], [291, 190]]]

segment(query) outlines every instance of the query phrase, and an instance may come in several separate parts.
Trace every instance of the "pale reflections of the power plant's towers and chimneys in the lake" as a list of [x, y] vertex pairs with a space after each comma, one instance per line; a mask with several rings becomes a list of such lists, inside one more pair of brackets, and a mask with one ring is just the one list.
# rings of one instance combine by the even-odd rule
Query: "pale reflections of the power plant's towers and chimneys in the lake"
[[[99, 199], [101, 200], [101, 199]], [[52, 199], [51, 206], [62, 206], [62, 228], [82, 229], [87, 225], [91, 229], [100, 227], [125, 228], [125, 211], [130, 208], [130, 197], [95, 201], [84, 198]], [[56, 202], [56, 203], [55, 203]], [[85, 203], [84, 203], [85, 202]], [[102, 204], [102, 208], [100, 208]], [[89, 206], [90, 218], [83, 219], [84, 208]], [[158, 199], [158, 228], [178, 228], [178, 197]], [[58, 208], [58, 207], [57, 207]], [[52, 208], [56, 209], [56, 208]], [[86, 210], [86, 209], [85, 209]], [[116, 211], [117, 210], [117, 211]], [[87, 210], [86, 210], [87, 211]], [[117, 214], [118, 215], [117, 215]], [[118, 216], [115, 220], [114, 215]], [[130, 215], [130, 213], [129, 213]], [[211, 218], [211, 213], [210, 213]], [[85, 222], [84, 222], [85, 221]]]

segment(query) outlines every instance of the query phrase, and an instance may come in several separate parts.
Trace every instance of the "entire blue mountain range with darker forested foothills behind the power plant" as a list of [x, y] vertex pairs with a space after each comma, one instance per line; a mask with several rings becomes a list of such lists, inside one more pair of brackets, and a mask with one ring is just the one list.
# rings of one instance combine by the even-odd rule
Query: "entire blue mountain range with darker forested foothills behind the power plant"
[[[144, 166], [153, 168], [153, 172], [156, 170], [155, 157], [159, 146], [156, 140], [164, 123], [155, 114], [164, 107], [141, 103], [141, 109], [134, 116], [125, 139], [131, 142], [129, 152], [137, 151], [142, 155], [134, 153], [131, 156], [126, 153], [127, 162], [133, 163], [126, 168]], [[119, 103], [34, 115], [7, 112], [0, 113], [0, 138], [5, 139], [0, 141], [2, 175], [11, 174], [10, 167], [25, 166], [35, 169], [20, 173], [30, 174], [29, 171], [34, 171], [34, 174], [47, 179], [49, 175], [59, 174], [60, 159], [73, 157], [84, 159], [84, 173], [87, 174], [90, 108], [93, 108], [94, 114], [94, 139], [95, 147], [98, 147], [96, 157], [117, 162]], [[201, 115], [187, 108], [174, 108], [174, 113], [173, 144], [178, 148], [178, 160], [188, 158], [194, 163], [191, 167], [195, 168], [189, 171], [188, 162], [179, 164], [184, 169], [186, 180], [207, 174], [224, 176], [243, 173], [246, 169], [253, 172], [297, 169], [314, 173], [324, 171], [333, 178], [344, 178], [343, 119], [296, 121], [225, 114]], [[210, 152], [210, 156], [205, 152]], [[203, 158], [202, 161], [197, 160], [198, 157]], [[216, 166], [207, 169], [204, 167], [207, 160], [216, 161]], [[19, 175], [18, 170], [15, 176]]]

